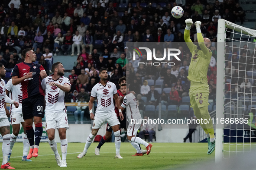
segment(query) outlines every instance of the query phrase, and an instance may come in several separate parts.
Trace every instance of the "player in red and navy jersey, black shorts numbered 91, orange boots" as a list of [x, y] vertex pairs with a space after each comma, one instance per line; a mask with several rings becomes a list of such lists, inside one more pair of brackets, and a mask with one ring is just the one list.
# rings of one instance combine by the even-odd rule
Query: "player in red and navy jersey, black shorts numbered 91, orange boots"
[[[44, 117], [44, 92], [41, 81], [47, 74], [40, 64], [35, 64], [36, 54], [26, 48], [22, 51], [25, 61], [16, 64], [11, 73], [13, 85], [21, 83], [23, 100], [22, 113], [30, 150], [27, 159], [38, 156], [39, 143], [42, 137], [42, 118]], [[33, 129], [33, 122], [36, 129]], [[35, 139], [34, 139], [35, 137]]]

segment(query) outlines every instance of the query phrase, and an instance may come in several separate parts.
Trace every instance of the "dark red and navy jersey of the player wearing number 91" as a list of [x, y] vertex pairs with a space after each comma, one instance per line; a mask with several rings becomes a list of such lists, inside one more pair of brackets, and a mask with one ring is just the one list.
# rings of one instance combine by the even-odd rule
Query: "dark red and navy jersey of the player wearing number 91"
[[44, 96], [44, 91], [41, 86], [41, 70], [45, 70], [41, 64], [35, 63], [19, 63], [16, 64], [13, 68], [11, 76], [18, 76], [18, 78], [25, 76], [29, 72], [32, 73], [32, 78], [25, 79], [21, 82], [23, 99], [29, 98], [34, 95], [42, 95]]

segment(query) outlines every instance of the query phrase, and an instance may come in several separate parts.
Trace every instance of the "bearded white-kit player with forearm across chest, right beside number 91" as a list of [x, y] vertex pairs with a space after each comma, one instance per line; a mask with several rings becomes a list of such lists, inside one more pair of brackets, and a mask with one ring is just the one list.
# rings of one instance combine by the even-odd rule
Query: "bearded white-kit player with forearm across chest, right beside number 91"
[[[42, 80], [42, 89], [45, 90], [45, 122], [48, 142], [55, 154], [58, 166], [67, 167], [66, 157], [68, 141], [66, 139], [66, 130], [68, 127], [68, 116], [64, 103], [65, 92], [70, 91], [69, 79], [64, 76], [64, 67], [62, 63], [57, 62], [52, 65], [53, 75]], [[55, 129], [61, 139], [62, 160], [57, 150], [55, 138]]]

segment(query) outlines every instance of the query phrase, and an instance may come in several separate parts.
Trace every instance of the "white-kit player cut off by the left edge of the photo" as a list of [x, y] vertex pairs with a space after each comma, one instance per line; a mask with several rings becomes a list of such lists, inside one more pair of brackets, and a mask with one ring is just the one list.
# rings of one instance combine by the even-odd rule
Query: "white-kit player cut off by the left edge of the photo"
[[5, 93], [5, 82], [2, 78], [5, 77], [6, 70], [2, 63], [0, 63], [0, 133], [3, 138], [2, 144], [2, 152], [3, 152], [3, 162], [1, 165], [1, 169], [15, 169], [10, 166], [8, 163], [8, 153], [10, 150], [10, 123], [8, 117], [6, 116], [6, 112], [4, 109], [4, 104], [10, 103], [14, 104], [16, 108], [19, 107], [19, 103], [10, 99]]

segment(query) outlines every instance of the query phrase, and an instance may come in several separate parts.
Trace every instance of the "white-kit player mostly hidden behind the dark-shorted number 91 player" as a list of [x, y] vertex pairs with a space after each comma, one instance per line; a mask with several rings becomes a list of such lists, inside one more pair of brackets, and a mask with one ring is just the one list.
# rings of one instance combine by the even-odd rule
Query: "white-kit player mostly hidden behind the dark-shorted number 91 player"
[[[13, 146], [16, 142], [16, 139], [19, 135], [19, 129], [20, 129], [20, 123], [23, 127], [24, 130], [24, 137], [23, 137], [23, 157], [22, 157], [22, 161], [30, 161], [29, 159], [27, 159], [27, 155], [29, 152], [29, 140], [27, 138], [26, 135], [26, 130], [25, 130], [25, 123], [23, 120], [23, 114], [22, 114], [22, 88], [21, 88], [21, 83], [17, 84], [17, 85], [13, 85], [12, 83], [12, 79], [10, 79], [5, 87], [5, 92], [6, 94], [10, 94], [9, 96], [11, 97], [11, 99], [14, 99], [15, 101], [19, 101], [19, 108], [15, 108], [15, 106], [12, 104], [10, 106], [10, 112], [9, 110], [8, 113], [10, 113], [11, 116], [11, 123], [13, 126], [13, 133], [11, 134], [11, 139], [10, 139], [10, 151], [9, 151], [9, 155], [8, 155], [8, 161], [10, 161], [10, 156], [12, 154], [12, 149]], [[6, 112], [7, 112], [6, 111]]]

